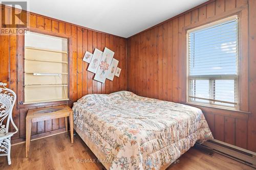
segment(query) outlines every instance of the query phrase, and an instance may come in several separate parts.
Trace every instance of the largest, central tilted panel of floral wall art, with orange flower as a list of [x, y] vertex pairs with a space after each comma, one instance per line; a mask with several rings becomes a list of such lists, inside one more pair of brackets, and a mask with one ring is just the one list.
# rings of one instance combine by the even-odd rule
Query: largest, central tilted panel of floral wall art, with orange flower
[[105, 47], [94, 80], [105, 83], [114, 54], [109, 48]]

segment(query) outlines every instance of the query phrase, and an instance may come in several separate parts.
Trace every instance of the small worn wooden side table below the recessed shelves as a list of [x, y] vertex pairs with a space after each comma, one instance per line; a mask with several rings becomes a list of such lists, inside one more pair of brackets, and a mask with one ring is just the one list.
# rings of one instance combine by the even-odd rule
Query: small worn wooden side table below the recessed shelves
[[70, 120], [70, 138], [71, 143], [73, 143], [74, 113], [69, 106], [55, 106], [29, 110], [26, 116], [26, 158], [29, 156], [32, 123], [65, 117], [65, 127], [66, 132], [68, 132], [68, 116]]

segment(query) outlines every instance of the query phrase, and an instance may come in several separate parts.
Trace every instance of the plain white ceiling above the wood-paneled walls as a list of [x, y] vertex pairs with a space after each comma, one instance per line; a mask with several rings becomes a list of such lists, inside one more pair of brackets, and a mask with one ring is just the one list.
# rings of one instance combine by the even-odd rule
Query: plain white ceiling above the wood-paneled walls
[[28, 0], [28, 11], [130, 37], [207, 0]]

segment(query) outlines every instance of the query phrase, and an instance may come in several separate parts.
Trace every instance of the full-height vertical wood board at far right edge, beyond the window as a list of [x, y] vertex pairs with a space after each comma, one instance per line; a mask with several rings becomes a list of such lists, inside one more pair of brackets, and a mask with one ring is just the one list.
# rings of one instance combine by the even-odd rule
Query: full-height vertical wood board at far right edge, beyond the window
[[256, 1], [249, 0], [249, 110], [252, 113], [248, 119], [248, 150], [256, 152]]

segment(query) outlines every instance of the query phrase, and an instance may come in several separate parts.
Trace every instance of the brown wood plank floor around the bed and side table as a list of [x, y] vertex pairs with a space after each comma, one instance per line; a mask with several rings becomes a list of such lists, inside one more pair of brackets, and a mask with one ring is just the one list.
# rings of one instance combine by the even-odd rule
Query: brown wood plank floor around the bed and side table
[[[31, 141], [29, 158], [25, 157], [25, 143], [13, 145], [11, 148], [12, 164], [8, 166], [7, 158], [0, 157], [0, 169], [104, 169], [98, 162], [79, 163], [77, 159], [96, 159], [91, 150], [78, 136], [70, 143], [68, 133]], [[191, 148], [179, 158], [179, 163], [168, 169], [254, 169], [250, 166], [214, 153]]]

